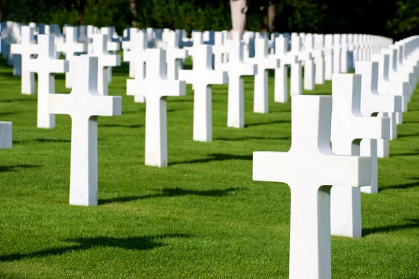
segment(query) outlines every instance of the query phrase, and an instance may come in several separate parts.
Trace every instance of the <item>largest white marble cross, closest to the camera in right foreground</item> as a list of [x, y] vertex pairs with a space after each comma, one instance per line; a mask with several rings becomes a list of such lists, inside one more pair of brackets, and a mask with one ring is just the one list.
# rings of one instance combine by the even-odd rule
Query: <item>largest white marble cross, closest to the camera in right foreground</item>
[[331, 96], [291, 96], [288, 152], [253, 152], [253, 180], [291, 188], [289, 278], [331, 278], [330, 188], [369, 183], [369, 158], [330, 149]]

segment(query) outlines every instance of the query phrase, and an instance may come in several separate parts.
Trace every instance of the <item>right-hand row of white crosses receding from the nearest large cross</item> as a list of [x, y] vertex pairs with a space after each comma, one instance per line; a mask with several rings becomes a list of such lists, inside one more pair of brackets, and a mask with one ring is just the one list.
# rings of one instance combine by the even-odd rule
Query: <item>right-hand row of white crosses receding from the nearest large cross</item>
[[419, 36], [389, 52], [399, 63], [383, 52], [358, 61], [355, 75], [334, 74], [331, 97], [292, 96], [290, 151], [253, 153], [253, 180], [291, 188], [289, 278], [332, 278], [330, 234], [362, 236], [360, 190], [376, 193], [374, 142], [390, 137], [390, 119], [374, 115], [402, 111], [405, 85], [419, 79]]

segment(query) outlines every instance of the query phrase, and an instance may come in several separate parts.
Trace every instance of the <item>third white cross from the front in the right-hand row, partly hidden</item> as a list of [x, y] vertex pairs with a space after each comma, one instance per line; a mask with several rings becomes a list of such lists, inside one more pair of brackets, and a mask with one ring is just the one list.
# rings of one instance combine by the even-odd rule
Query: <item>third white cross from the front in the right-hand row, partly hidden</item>
[[[383, 112], [394, 113], [401, 111], [402, 98], [400, 96], [381, 95], [378, 93], [378, 62], [358, 61], [355, 63], [355, 73], [362, 75], [362, 115], [372, 116]], [[390, 123], [388, 126], [388, 137], [382, 137], [382, 139], [389, 138]], [[371, 186], [363, 187], [361, 190], [363, 193], [378, 193], [377, 141], [362, 140], [361, 154], [365, 156], [371, 156], [372, 163]]]

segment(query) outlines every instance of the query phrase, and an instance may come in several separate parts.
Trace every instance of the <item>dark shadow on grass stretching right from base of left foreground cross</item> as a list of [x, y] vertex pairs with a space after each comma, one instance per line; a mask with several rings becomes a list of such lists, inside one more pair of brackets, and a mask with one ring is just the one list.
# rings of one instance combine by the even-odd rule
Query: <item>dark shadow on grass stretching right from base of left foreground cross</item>
[[227, 188], [227, 189], [215, 189], [215, 190], [186, 190], [182, 188], [164, 188], [161, 193], [142, 195], [142, 196], [130, 196], [130, 197], [115, 197], [110, 199], [99, 199], [98, 204], [110, 204], [113, 202], [134, 202], [143, 199], [152, 199], [156, 197], [182, 197], [186, 195], [200, 196], [200, 197], [224, 197], [230, 195], [231, 192], [248, 190], [247, 188]]

